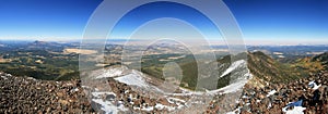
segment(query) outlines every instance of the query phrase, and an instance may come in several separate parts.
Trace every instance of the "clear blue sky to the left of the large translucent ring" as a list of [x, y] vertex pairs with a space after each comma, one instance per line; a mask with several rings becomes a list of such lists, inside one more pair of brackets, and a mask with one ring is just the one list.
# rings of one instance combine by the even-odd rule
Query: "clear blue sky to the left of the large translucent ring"
[[1, 39], [78, 39], [101, 0], [0, 0]]

